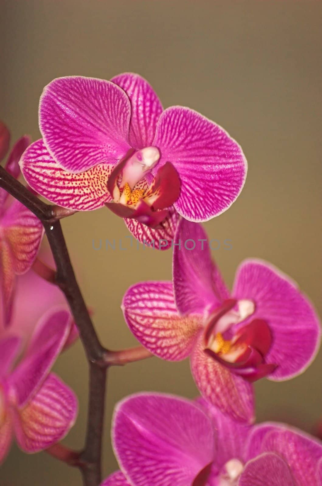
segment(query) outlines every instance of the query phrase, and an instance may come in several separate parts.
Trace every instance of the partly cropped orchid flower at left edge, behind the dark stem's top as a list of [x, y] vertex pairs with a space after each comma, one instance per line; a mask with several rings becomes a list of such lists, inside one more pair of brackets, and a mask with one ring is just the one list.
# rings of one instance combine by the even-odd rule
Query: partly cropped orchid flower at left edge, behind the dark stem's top
[[[9, 132], [0, 123], [0, 154], [9, 144]], [[19, 159], [30, 144], [30, 138], [21, 137], [14, 145], [5, 169], [15, 178], [20, 175]], [[10, 324], [16, 276], [22, 275], [33, 264], [44, 233], [36, 216], [19, 201], [8, 197], [0, 188], [0, 274], [4, 324]]]

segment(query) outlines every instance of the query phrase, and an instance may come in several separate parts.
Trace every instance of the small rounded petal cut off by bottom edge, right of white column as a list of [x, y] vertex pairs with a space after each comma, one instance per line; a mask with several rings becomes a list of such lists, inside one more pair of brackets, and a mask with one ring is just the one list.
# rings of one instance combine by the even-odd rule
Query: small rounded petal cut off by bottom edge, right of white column
[[[306, 483], [307, 485], [311, 483]], [[299, 486], [293, 480], [287, 463], [277, 454], [267, 452], [245, 466], [238, 486]], [[304, 486], [304, 485], [303, 485]]]

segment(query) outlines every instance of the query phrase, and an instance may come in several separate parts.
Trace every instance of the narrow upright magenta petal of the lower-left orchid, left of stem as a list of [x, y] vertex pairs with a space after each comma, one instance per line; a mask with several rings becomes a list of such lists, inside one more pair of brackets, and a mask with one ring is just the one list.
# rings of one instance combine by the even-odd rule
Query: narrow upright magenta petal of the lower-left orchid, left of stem
[[71, 324], [68, 311], [50, 311], [39, 322], [27, 353], [8, 379], [19, 407], [26, 405], [45, 380], [69, 337]]

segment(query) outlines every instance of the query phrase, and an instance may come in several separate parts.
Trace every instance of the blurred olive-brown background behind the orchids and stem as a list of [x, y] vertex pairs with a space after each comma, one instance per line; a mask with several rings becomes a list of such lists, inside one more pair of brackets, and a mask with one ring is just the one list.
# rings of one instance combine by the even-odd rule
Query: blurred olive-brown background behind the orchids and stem
[[[164, 107], [201, 112], [228, 130], [247, 156], [240, 197], [205, 224], [221, 243], [213, 254], [228, 284], [241, 260], [263, 258], [292, 276], [321, 314], [321, 14], [315, 1], [2, 0], [0, 118], [13, 139], [29, 133], [35, 140], [39, 96], [53, 78], [140, 73]], [[171, 251], [131, 248], [123, 220], [107, 209], [78, 213], [63, 229], [102, 342], [114, 349], [135, 345], [122, 296], [139, 280], [170, 279]], [[105, 249], [107, 239], [115, 239], [115, 250]], [[225, 239], [232, 249], [225, 249]], [[102, 249], [95, 250], [100, 240]], [[257, 382], [258, 421], [312, 431], [322, 417], [321, 365], [320, 354], [290, 382]], [[80, 343], [59, 358], [55, 371], [79, 397], [77, 423], [64, 441], [79, 448], [88, 384]], [[140, 390], [197, 394], [187, 361], [153, 358], [111, 369], [105, 476], [117, 468], [109, 436], [113, 407]], [[14, 446], [0, 485], [22, 484], [76, 486], [81, 479], [45, 453], [27, 456]]]

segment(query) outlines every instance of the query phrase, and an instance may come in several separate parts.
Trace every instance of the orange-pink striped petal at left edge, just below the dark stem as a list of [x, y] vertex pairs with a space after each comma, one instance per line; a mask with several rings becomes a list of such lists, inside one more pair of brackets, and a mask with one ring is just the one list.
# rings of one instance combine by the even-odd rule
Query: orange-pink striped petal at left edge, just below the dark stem
[[44, 228], [40, 220], [17, 200], [5, 212], [1, 226], [11, 251], [14, 272], [22, 275], [37, 256]]

